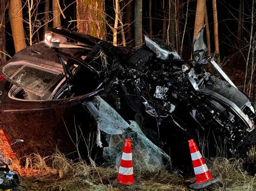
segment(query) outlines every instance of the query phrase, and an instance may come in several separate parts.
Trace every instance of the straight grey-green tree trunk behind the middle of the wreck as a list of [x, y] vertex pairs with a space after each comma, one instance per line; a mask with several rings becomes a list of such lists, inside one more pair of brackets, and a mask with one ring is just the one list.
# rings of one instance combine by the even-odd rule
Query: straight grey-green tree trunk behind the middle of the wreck
[[134, 6], [134, 37], [135, 46], [139, 48], [143, 44], [142, 36], [142, 0], [135, 0]]

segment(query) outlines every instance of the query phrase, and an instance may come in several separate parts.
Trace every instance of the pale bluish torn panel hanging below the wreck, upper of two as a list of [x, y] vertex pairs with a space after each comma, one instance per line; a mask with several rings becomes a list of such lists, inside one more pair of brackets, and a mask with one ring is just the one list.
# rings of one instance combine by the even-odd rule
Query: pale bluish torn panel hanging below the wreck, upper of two
[[95, 118], [100, 131], [110, 135], [119, 135], [124, 129], [129, 128], [129, 124], [107, 104], [100, 96], [95, 96], [92, 102], [83, 103]]

